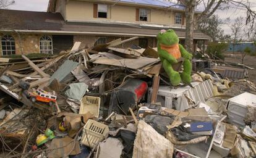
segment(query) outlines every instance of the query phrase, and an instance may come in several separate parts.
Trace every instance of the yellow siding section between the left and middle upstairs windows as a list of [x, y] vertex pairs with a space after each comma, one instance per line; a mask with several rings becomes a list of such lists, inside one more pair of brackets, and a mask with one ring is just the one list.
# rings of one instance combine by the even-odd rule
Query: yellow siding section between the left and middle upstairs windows
[[111, 20], [121, 22], [135, 22], [136, 7], [117, 5], [111, 7]]

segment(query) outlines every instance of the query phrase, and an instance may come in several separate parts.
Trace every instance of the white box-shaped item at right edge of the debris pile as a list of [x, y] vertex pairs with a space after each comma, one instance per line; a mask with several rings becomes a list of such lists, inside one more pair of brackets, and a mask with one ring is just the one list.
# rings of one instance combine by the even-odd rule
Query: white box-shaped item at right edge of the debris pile
[[251, 93], [242, 93], [228, 101], [228, 118], [229, 122], [238, 125], [245, 126], [244, 118], [247, 114], [247, 106], [256, 107], [256, 95]]

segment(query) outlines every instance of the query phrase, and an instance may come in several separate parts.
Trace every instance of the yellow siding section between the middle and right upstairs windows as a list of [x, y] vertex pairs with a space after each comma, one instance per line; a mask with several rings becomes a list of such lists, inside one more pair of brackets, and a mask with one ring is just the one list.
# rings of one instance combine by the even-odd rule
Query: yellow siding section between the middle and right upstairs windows
[[151, 23], [172, 25], [174, 24], [174, 17], [171, 11], [152, 9]]

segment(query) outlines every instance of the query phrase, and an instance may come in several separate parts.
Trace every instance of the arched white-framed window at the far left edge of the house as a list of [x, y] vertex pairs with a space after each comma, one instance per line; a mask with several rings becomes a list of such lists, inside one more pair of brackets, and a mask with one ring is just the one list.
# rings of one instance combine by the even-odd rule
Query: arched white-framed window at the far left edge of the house
[[1, 38], [2, 56], [15, 54], [15, 40], [11, 35], [5, 35]]

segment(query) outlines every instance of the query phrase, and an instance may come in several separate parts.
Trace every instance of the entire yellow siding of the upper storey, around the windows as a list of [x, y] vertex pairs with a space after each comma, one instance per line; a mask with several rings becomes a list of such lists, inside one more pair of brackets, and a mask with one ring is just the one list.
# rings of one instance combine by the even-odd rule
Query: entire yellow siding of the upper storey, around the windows
[[[61, 0], [60, 0], [61, 1]], [[66, 4], [66, 20], [73, 21], [101, 21], [108, 20], [112, 22], [137, 22], [135, 6], [109, 5], [108, 19], [93, 18], [93, 2], [70, 0]], [[162, 25], [174, 25], [174, 10], [150, 9], [148, 22]]]

